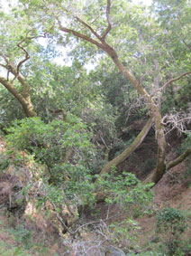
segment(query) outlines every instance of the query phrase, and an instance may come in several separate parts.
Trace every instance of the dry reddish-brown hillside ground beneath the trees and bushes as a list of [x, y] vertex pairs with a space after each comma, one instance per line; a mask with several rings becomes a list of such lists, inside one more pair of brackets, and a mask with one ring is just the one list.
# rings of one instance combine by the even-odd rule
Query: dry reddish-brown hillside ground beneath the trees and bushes
[[[5, 149], [5, 141], [1, 138], [1, 152], [6, 151]], [[170, 153], [172, 154], [172, 152]], [[138, 155], [139, 156], [139, 155]], [[136, 168], [135, 168], [136, 169]], [[13, 166], [10, 166], [4, 170], [4, 174], [10, 175], [15, 174]], [[19, 171], [17, 170], [17, 174]], [[0, 179], [3, 174], [0, 175]], [[3, 182], [3, 181], [1, 181]], [[0, 183], [1, 185], [2, 183]], [[163, 175], [162, 179], [159, 181], [157, 185], [152, 188], [154, 192], [154, 198], [152, 203], [150, 204], [150, 213], [144, 214], [142, 217], [136, 217], [135, 220], [139, 223], [140, 229], [138, 230], [136, 236], [136, 246], [133, 248], [133, 251], [136, 251], [138, 255], [160, 255], [156, 252], [153, 254], [154, 248], [158, 246], [157, 232], [156, 232], [156, 215], [166, 208], [175, 208], [181, 211], [185, 211], [190, 213], [191, 211], [191, 179], [190, 175], [186, 169], [186, 162], [182, 162], [178, 166], [172, 168], [168, 173]], [[12, 192], [14, 194], [14, 191]], [[12, 197], [14, 198], [12, 194]], [[95, 230], [91, 231], [91, 226], [89, 228], [79, 230], [77, 237], [75, 240], [72, 237], [69, 238], [69, 233], [60, 234], [59, 223], [50, 223], [49, 218], [44, 215], [43, 210], [36, 211], [35, 209], [31, 209], [32, 201], [28, 200], [28, 203], [25, 204], [24, 211], [17, 208], [9, 208], [9, 198], [5, 197], [4, 201], [1, 201], [1, 209], [3, 210], [0, 214], [0, 244], [1, 244], [1, 252], [2, 256], [14, 256], [14, 255], [92, 255], [99, 256], [105, 255], [104, 251], [107, 251], [106, 255], [123, 255], [123, 251], [117, 247], [121, 243], [121, 247], [125, 248], [126, 240], [123, 239], [123, 234], [119, 236], [119, 242], [111, 243], [109, 238], [109, 234], [107, 237], [107, 241], [105, 242], [104, 236], [98, 235], [96, 232], [96, 228], [98, 226], [94, 226]], [[5, 206], [7, 205], [7, 210]], [[30, 206], [31, 205], [31, 206]], [[14, 207], [14, 203], [13, 206]], [[20, 207], [17, 205], [17, 207]], [[23, 206], [22, 206], [23, 207]], [[33, 206], [35, 207], [35, 206]], [[10, 211], [11, 210], [11, 211]], [[123, 220], [127, 217], [124, 213], [117, 217], [119, 208], [117, 205], [112, 206], [110, 209], [110, 213], [108, 213], [108, 208], [105, 203], [97, 204], [94, 207], [94, 212], [96, 215], [92, 215], [92, 210], [86, 210], [86, 214], [83, 216], [80, 225], [85, 225], [86, 223], [99, 223], [100, 220], [106, 220], [106, 215], [109, 222], [105, 222], [107, 225], [111, 225], [113, 223], [118, 222], [123, 223]], [[109, 214], [109, 215], [108, 215]], [[127, 213], [129, 214], [129, 213]], [[53, 216], [53, 215], [52, 215]], [[42, 219], [45, 218], [45, 219]], [[100, 219], [101, 218], [101, 219]], [[191, 219], [187, 223], [189, 228], [186, 229], [186, 232], [181, 234], [183, 237], [183, 241], [186, 241], [187, 238], [191, 237]], [[101, 221], [103, 222], [103, 221]], [[79, 224], [79, 223], [78, 223]], [[103, 225], [103, 223], [102, 223]], [[77, 227], [77, 224], [76, 224]], [[88, 225], [86, 226], [88, 227]], [[102, 227], [103, 228], [103, 227]], [[105, 228], [104, 228], [105, 229]], [[104, 235], [104, 234], [103, 234]], [[105, 233], [106, 235], [106, 233]], [[134, 234], [135, 235], [135, 234]], [[68, 246], [66, 246], [66, 242], [68, 241]], [[100, 245], [95, 244], [95, 239], [101, 239]], [[104, 239], [104, 240], [103, 240]], [[135, 239], [135, 237], [134, 237]], [[188, 240], [189, 241], [189, 240]], [[187, 242], [188, 242], [187, 241]], [[86, 242], [86, 246], [82, 246], [83, 243]], [[99, 242], [98, 242], [99, 243]], [[101, 245], [103, 243], [103, 245]], [[117, 245], [119, 244], [119, 245]], [[132, 242], [133, 244], [133, 242]], [[191, 243], [190, 243], [191, 244]], [[92, 247], [92, 249], [91, 249]], [[96, 251], [95, 251], [95, 248]], [[186, 253], [181, 255], [190, 255], [191, 248], [188, 243], [186, 243]], [[190, 249], [189, 249], [190, 248]], [[123, 249], [125, 251], [125, 249]], [[68, 251], [68, 252], [67, 252]], [[73, 252], [72, 252], [73, 251]], [[81, 251], [81, 252], [80, 252]], [[147, 251], [147, 252], [143, 252]], [[104, 254], [103, 254], [104, 253]], [[120, 254], [121, 253], [121, 254]], [[145, 254], [146, 253], [146, 254]], [[151, 254], [152, 253], [152, 254]], [[132, 253], [127, 253], [125, 255], [134, 255]], [[168, 255], [168, 254], [167, 254]], [[176, 254], [177, 255], [177, 254]], [[180, 254], [179, 254], [180, 255]]]

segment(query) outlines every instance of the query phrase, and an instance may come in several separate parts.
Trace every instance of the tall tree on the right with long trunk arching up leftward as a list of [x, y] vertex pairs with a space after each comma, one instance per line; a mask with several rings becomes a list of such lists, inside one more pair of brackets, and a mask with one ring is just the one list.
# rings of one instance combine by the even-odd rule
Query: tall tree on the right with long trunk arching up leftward
[[[159, 101], [161, 99], [159, 99], [159, 97], [158, 100], [156, 100], [155, 96], [157, 92], [161, 94], [161, 92], [167, 88], [168, 84], [173, 81], [178, 81], [180, 78], [191, 73], [191, 71], [183, 72], [177, 77], [172, 77], [162, 84], [164, 74], [162, 67], [159, 66], [159, 64], [162, 61], [164, 62], [164, 54], [166, 54], [165, 52], [167, 51], [170, 52], [170, 49], [168, 49], [168, 46], [164, 47], [162, 52], [163, 59], [159, 57], [160, 54], [155, 54], [155, 52], [153, 52], [156, 46], [159, 47], [160, 38], [164, 38], [164, 41], [167, 39], [166, 37], [163, 37], [164, 31], [157, 25], [157, 19], [150, 17], [148, 20], [146, 18], [145, 9], [134, 7], [131, 3], [127, 3], [126, 1], [117, 3], [114, 3], [111, 0], [107, 0], [106, 3], [105, 1], [90, 1], [88, 3], [82, 1], [77, 3], [75, 1], [70, 1], [69, 3], [67, 1], [22, 2], [24, 5], [27, 3], [25, 6], [28, 14], [30, 14], [33, 9], [35, 11], [38, 10], [37, 13], [41, 16], [41, 11], [43, 9], [44, 17], [41, 18], [41, 21], [43, 20], [45, 27], [48, 22], [54, 20], [55, 23], [58, 24], [58, 28], [55, 28], [56, 31], [59, 29], [60, 32], [67, 33], [68, 37], [81, 39], [86, 43], [89, 43], [87, 47], [92, 47], [94, 51], [94, 47], [96, 46], [101, 52], [107, 53], [115, 66], [123, 73], [123, 76], [131, 82], [132, 87], [144, 98], [150, 109], [150, 115], [155, 120], [158, 156], [156, 170], [152, 176], [152, 181], [157, 183], [166, 170], [166, 138], [162, 124], [162, 115], [159, 108]], [[139, 24], [141, 25], [140, 30], [137, 29], [138, 22], [134, 20], [135, 15], [138, 22], [143, 23], [143, 25]], [[124, 24], [124, 18], [126, 18], [126, 26]], [[117, 21], [117, 19], [119, 21]], [[39, 22], [41, 23], [41, 21]], [[123, 24], [120, 24], [121, 22]], [[127, 33], [128, 29], [129, 32]], [[151, 29], [151, 33], [149, 33], [149, 36], [144, 36], [144, 31], [148, 29]], [[124, 33], [127, 33], [125, 38], [123, 37]], [[158, 33], [157, 36], [156, 33]], [[155, 36], [152, 40], [151, 36], [153, 35]], [[60, 34], [60, 36], [64, 37], [62, 34]], [[141, 46], [141, 49], [135, 48], [135, 53], [137, 53], [136, 57], [138, 59], [137, 62], [143, 64], [142, 60], [145, 58], [146, 65], [148, 65], [147, 60], [149, 59], [149, 64], [152, 63], [154, 66], [154, 69], [150, 71], [150, 79], [148, 80], [151, 81], [151, 84], [154, 83], [156, 85], [154, 91], [150, 90], [152, 89], [152, 86], [150, 86], [149, 90], [146, 90], [144, 87], [144, 83], [146, 84], [146, 87], [148, 87], [148, 81], [144, 81], [143, 79], [146, 74], [140, 74], [140, 71], [138, 71], [137, 73], [140, 78], [136, 78], [131, 71], [130, 66], [129, 68], [127, 67], [128, 63], [124, 64], [123, 61], [121, 61], [121, 59], [123, 60], [124, 58], [120, 58], [118, 52], [120, 54], [122, 52], [115, 50], [115, 48], [119, 48], [117, 46], [119, 39], [122, 40], [122, 47], [126, 43], [130, 51], [132, 45], [140, 41], [140, 43], [137, 44]], [[165, 43], [163, 44], [165, 45]], [[138, 49], [140, 52], [136, 52]], [[159, 49], [158, 51], [159, 53], [161, 52]], [[146, 52], [146, 54], [144, 52]], [[131, 53], [129, 52], [129, 54]], [[171, 57], [169, 59], [171, 59]], [[167, 75], [164, 77], [167, 77]], [[141, 138], [137, 139], [137, 145], [140, 144], [140, 141]]]

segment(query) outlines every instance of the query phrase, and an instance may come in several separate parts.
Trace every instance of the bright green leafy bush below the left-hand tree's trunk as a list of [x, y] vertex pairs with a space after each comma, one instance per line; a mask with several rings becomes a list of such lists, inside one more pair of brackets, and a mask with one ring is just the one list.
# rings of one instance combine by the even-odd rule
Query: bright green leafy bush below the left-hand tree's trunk
[[[64, 176], [84, 175], [95, 156], [91, 133], [81, 119], [68, 115], [66, 121], [45, 124], [40, 118], [14, 122], [6, 137], [7, 147], [31, 154], [47, 166], [50, 182], [63, 182]], [[83, 174], [82, 174], [83, 173]]]

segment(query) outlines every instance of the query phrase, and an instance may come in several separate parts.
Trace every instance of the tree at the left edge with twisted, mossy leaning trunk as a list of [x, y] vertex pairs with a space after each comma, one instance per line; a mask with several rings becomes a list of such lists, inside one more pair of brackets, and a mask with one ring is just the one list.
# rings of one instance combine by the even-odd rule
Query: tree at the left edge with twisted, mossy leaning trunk
[[34, 34], [32, 35], [30, 27], [26, 24], [26, 17], [22, 17], [22, 14], [20, 19], [16, 14], [13, 17], [2, 13], [2, 16], [0, 67], [3, 68], [6, 77], [0, 76], [0, 83], [19, 101], [27, 117], [36, 117], [30, 85], [21, 73], [23, 64], [30, 59], [29, 52], [25, 49], [25, 42], [31, 42]]

